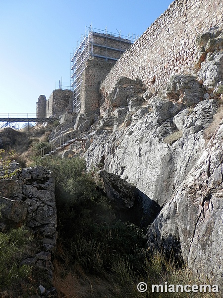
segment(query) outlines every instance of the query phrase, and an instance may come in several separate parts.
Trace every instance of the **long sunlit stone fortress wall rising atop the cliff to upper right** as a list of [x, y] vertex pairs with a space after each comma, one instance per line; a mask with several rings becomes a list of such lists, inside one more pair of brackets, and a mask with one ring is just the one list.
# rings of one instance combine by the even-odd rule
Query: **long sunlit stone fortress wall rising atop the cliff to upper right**
[[193, 73], [196, 36], [223, 27], [222, 0], [175, 0], [117, 61], [101, 84], [106, 95], [120, 76], [158, 89], [173, 74]]

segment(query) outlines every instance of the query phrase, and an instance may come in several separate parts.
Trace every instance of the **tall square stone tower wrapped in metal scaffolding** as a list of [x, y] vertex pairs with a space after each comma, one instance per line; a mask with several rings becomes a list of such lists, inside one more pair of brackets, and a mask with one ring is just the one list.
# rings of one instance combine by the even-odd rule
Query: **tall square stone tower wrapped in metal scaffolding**
[[101, 81], [133, 41], [133, 36], [122, 37], [107, 30], [86, 27], [71, 57], [74, 112], [94, 112], [99, 108]]

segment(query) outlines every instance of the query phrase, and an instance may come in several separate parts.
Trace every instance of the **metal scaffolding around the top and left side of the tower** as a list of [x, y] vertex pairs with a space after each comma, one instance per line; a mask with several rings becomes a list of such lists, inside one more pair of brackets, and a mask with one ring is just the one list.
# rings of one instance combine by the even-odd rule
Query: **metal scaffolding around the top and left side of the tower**
[[[74, 93], [73, 111], [80, 110], [80, 90], [82, 84], [81, 74], [85, 70], [88, 59], [99, 58], [106, 61], [117, 61], [125, 50], [137, 39], [132, 34], [121, 36], [105, 30], [86, 27], [85, 34], [82, 34], [77, 48], [71, 54], [71, 90]], [[114, 46], [111, 46], [111, 44]], [[110, 46], [108, 46], [110, 44]], [[127, 46], [124, 46], [127, 45]]]

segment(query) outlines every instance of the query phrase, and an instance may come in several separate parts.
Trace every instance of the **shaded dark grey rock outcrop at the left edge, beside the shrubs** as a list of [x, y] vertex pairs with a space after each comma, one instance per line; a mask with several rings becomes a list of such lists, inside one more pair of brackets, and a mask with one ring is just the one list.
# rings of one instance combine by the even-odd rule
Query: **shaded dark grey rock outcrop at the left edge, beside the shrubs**
[[30, 229], [40, 251], [22, 263], [46, 270], [50, 279], [54, 269], [52, 254], [56, 250], [54, 190], [51, 173], [41, 166], [21, 169], [11, 179], [0, 179], [0, 229], [21, 225]]

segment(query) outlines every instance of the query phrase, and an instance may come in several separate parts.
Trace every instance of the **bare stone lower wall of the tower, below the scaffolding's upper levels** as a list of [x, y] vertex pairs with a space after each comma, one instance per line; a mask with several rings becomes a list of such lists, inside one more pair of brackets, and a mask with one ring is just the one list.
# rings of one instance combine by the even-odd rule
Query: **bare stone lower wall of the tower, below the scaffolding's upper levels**
[[94, 112], [99, 108], [100, 83], [114, 66], [114, 62], [102, 59], [87, 60], [86, 68], [82, 74], [80, 93], [81, 113]]

